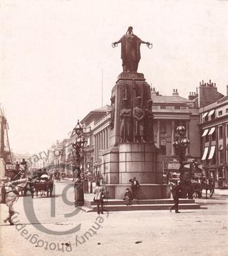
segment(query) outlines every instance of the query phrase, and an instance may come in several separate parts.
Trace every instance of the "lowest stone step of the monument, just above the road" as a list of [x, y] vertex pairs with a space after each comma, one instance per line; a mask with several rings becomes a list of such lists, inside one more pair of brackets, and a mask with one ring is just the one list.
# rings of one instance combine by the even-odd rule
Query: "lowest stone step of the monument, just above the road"
[[[109, 212], [118, 212], [118, 211], [135, 211], [135, 210], [169, 210], [173, 204], [158, 204], [158, 205], [105, 205], [104, 210]], [[87, 207], [88, 208], [88, 207]], [[92, 205], [90, 208], [93, 212], [96, 212], [97, 207]], [[189, 210], [189, 209], [201, 209], [199, 204], [180, 204], [180, 210]], [[204, 208], [205, 209], [205, 208]]]

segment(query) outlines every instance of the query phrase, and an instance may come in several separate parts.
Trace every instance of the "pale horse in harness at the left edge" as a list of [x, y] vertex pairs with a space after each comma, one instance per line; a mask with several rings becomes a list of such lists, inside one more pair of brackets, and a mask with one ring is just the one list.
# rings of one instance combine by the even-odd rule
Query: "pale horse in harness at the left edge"
[[19, 192], [26, 189], [26, 187], [29, 185], [31, 194], [33, 195], [34, 187], [33, 182], [29, 180], [30, 178], [24, 178], [24, 179], [17, 179], [15, 181], [6, 182], [3, 186], [5, 192], [4, 192], [4, 203], [7, 207], [9, 207], [9, 217], [4, 220], [4, 222], [9, 221], [10, 225], [14, 225], [14, 223], [11, 220], [11, 217], [16, 213], [14, 212], [14, 203], [19, 198]]

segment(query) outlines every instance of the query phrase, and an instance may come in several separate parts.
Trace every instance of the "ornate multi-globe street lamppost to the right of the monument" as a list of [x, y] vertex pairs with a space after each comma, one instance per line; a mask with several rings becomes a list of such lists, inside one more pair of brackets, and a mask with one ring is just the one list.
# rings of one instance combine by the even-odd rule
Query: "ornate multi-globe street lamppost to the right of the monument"
[[190, 145], [190, 140], [185, 137], [186, 129], [182, 124], [177, 127], [176, 132], [178, 136], [172, 144], [172, 147], [175, 148], [175, 154], [180, 158], [180, 181], [183, 182], [185, 179], [185, 152]]

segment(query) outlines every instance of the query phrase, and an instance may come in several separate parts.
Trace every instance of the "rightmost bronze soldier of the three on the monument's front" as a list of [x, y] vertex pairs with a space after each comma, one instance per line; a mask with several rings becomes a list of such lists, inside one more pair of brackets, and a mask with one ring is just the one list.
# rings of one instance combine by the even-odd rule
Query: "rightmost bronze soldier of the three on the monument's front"
[[145, 109], [145, 140], [147, 142], [154, 143], [154, 127], [153, 127], [154, 115], [152, 114], [152, 99], [147, 101], [147, 107]]

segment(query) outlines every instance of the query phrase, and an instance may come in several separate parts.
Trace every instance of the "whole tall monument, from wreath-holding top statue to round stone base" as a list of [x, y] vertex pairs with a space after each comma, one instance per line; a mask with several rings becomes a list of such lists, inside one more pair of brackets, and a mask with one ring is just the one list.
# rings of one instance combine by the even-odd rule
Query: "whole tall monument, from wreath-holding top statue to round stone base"
[[[123, 72], [112, 90], [110, 147], [103, 152], [103, 177], [110, 198], [122, 199], [129, 179], [140, 182], [138, 199], [167, 197], [167, 185], [162, 184], [160, 150], [153, 139], [153, 114], [150, 85], [138, 73], [140, 44], [130, 26], [113, 47], [121, 43]], [[113, 113], [113, 114], [112, 114]], [[114, 114], [115, 113], [115, 114]]]

